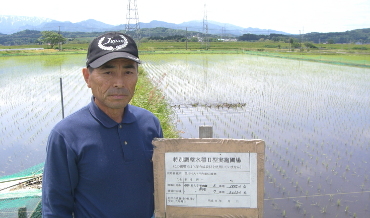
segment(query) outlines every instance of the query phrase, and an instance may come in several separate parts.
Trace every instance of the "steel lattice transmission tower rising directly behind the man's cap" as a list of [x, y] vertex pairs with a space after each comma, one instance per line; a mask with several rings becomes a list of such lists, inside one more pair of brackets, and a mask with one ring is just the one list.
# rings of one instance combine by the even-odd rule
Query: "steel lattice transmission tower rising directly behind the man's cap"
[[[137, 14], [136, 0], [127, 0], [126, 28], [125, 33], [131, 36], [137, 47], [141, 44], [140, 23]], [[142, 44], [141, 44], [142, 46]]]

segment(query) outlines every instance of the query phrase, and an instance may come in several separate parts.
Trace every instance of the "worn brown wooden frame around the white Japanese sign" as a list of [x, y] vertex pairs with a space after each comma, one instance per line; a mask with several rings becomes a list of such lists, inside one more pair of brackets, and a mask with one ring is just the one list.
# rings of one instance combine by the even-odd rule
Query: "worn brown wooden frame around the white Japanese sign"
[[[262, 139], [155, 138], [153, 141], [155, 217], [263, 217], [264, 156]], [[257, 208], [166, 205], [166, 153], [257, 153]]]

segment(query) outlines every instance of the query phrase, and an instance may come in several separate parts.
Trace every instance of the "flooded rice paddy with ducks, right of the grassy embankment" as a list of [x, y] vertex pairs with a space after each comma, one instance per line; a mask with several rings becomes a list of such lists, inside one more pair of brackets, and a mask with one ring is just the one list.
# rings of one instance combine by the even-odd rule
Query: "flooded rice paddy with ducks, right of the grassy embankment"
[[[265, 140], [265, 217], [368, 217], [370, 70], [249, 55], [147, 55], [183, 137]], [[165, 76], [164, 76], [165, 75]]]

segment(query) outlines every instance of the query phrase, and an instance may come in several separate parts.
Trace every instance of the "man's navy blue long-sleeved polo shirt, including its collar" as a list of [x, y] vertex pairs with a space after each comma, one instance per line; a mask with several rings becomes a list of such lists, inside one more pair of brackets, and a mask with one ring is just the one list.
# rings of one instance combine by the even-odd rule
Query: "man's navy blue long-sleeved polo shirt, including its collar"
[[149, 218], [158, 118], [127, 105], [121, 123], [94, 102], [54, 126], [42, 184], [43, 217]]

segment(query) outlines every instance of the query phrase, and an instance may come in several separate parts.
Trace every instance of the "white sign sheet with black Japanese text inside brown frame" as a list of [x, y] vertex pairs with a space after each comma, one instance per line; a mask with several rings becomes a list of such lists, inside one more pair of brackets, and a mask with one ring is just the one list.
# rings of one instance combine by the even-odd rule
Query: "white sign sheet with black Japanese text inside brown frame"
[[257, 208], [257, 153], [165, 154], [166, 205]]

